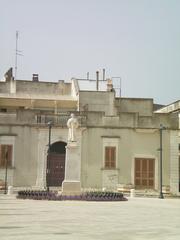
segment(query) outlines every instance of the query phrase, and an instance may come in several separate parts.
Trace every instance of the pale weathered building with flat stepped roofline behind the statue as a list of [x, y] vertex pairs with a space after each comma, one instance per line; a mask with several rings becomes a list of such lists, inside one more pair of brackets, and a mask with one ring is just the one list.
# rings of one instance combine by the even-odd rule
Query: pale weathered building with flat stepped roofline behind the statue
[[74, 113], [82, 189], [159, 190], [160, 124], [163, 186], [179, 194], [179, 113], [154, 111], [153, 99], [83, 91], [77, 79], [0, 82], [0, 179], [14, 187], [61, 187], [66, 168], [67, 120]]

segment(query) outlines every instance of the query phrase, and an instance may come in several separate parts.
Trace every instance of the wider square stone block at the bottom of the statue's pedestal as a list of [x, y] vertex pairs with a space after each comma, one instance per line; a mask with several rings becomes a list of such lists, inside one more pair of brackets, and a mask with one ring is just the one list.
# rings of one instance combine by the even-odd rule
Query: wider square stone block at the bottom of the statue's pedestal
[[80, 195], [81, 183], [80, 181], [66, 181], [62, 183], [62, 195]]

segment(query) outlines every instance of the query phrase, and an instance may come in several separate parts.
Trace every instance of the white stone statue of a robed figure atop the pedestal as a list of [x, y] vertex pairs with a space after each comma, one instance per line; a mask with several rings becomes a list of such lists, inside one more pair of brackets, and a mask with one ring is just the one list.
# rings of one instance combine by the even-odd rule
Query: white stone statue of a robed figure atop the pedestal
[[67, 126], [69, 128], [68, 141], [76, 142], [76, 128], [78, 128], [79, 124], [74, 113], [71, 113], [71, 118], [67, 121]]

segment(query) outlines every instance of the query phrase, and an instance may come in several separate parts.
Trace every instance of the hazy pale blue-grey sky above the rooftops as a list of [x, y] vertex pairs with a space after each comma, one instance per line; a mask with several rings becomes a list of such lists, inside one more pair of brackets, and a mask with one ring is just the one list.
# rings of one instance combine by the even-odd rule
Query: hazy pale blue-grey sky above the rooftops
[[[0, 78], [122, 78], [123, 97], [180, 99], [180, 0], [0, 0]], [[102, 72], [101, 72], [102, 73]]]

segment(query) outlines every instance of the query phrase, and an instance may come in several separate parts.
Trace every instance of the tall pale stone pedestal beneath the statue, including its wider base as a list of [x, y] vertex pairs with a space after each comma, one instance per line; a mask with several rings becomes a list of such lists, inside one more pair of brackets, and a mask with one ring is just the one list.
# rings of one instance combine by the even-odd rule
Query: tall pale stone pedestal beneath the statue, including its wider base
[[68, 142], [66, 146], [65, 179], [62, 183], [63, 195], [81, 193], [81, 154], [77, 142]]

